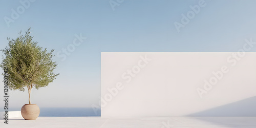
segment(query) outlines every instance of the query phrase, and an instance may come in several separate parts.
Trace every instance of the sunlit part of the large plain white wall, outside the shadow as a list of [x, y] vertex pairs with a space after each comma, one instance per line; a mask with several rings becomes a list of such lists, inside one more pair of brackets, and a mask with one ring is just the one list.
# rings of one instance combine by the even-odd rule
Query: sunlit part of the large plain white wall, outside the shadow
[[253, 96], [256, 53], [101, 53], [101, 117], [188, 116]]

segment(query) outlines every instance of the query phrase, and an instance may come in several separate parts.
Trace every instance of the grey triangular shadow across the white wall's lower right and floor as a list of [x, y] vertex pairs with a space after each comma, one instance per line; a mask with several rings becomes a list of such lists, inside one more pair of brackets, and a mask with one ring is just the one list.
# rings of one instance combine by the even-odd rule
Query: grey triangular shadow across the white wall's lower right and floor
[[218, 127], [256, 127], [256, 96], [187, 115]]

